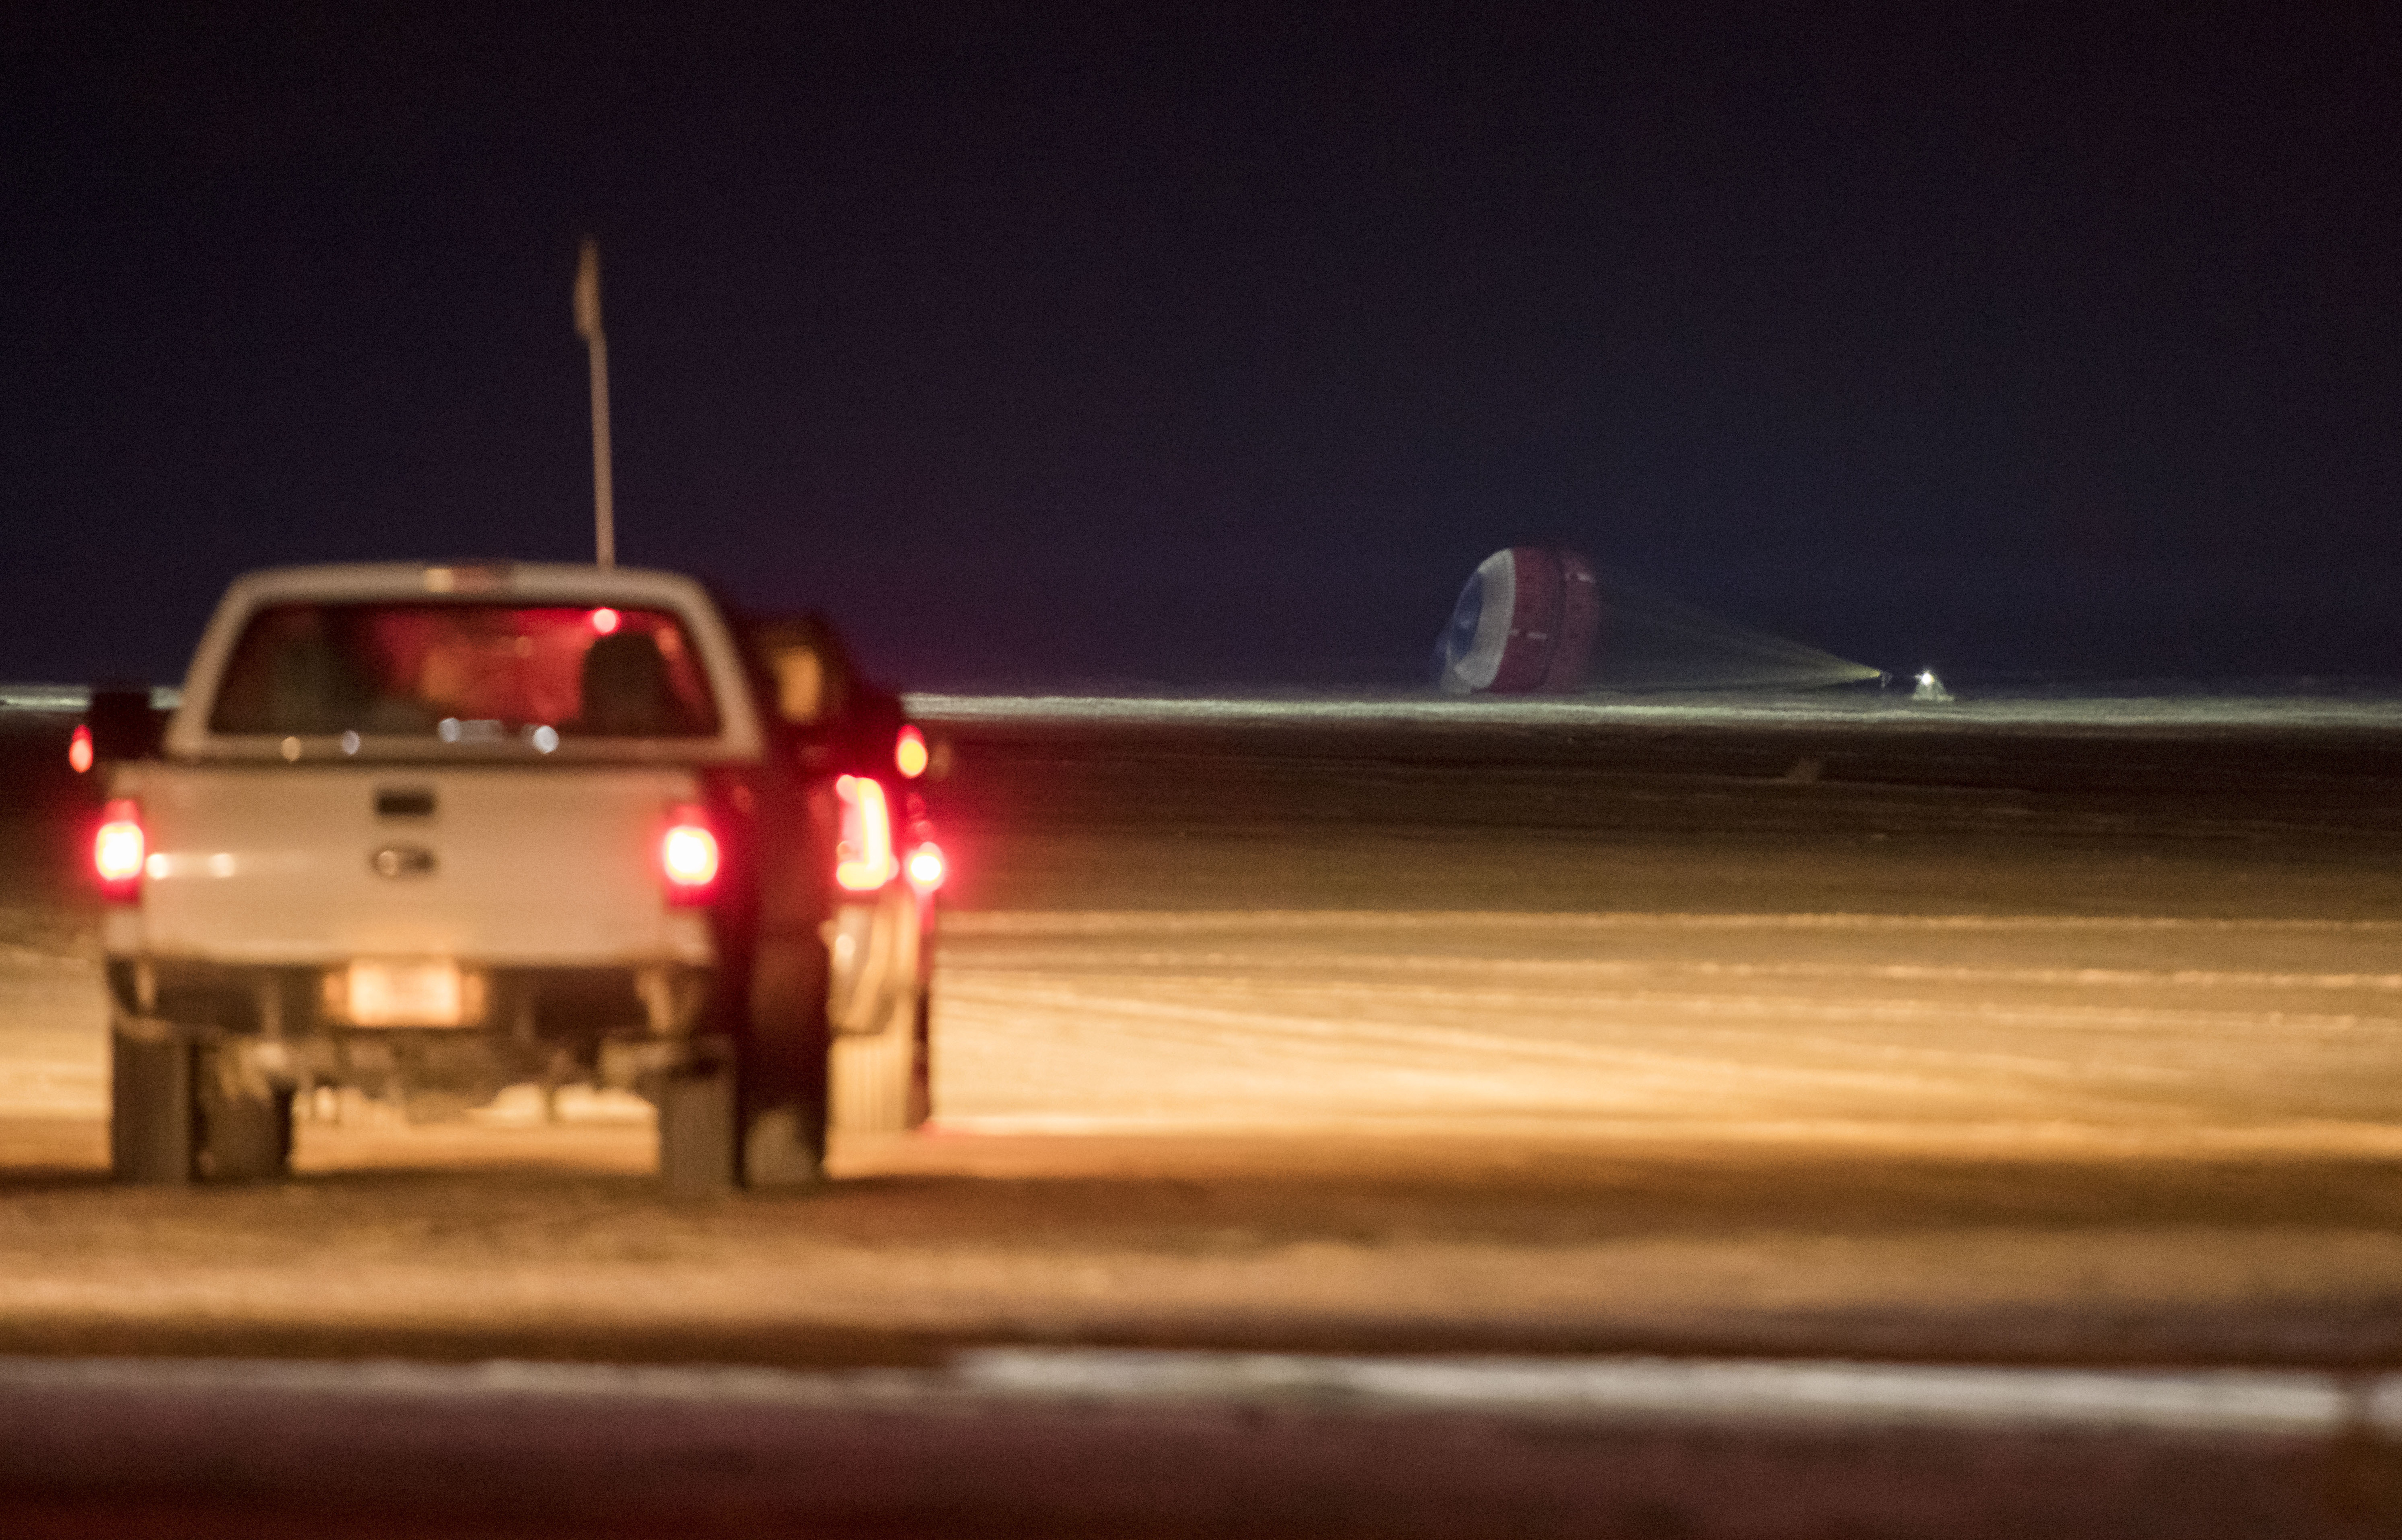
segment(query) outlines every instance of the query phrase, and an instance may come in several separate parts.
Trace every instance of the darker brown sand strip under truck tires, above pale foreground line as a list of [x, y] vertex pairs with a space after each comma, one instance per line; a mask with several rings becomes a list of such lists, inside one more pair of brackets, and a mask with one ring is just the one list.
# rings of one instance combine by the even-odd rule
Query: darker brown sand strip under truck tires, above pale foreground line
[[[10, 1134], [26, 1165], [79, 1153]], [[0, 1348], [2402, 1357], [2388, 1160], [1014, 1134], [848, 1148], [821, 1192], [704, 1206], [644, 1163], [639, 1134], [432, 1129], [319, 1139], [286, 1187], [19, 1165]]]

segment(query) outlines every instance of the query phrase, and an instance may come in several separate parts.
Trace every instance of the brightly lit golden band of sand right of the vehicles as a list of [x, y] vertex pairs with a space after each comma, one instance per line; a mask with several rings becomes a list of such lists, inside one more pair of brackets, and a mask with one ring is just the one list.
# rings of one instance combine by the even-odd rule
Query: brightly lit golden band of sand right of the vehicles
[[937, 1108], [1054, 1132], [2397, 1151], [2397, 939], [2015, 915], [956, 915]]

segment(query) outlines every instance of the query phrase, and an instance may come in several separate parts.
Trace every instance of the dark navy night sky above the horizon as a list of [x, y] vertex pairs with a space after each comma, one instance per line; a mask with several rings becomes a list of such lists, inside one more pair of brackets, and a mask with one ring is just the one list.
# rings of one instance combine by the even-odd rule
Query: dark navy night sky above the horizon
[[2402, 675], [2402, 12], [1292, 12], [12, 5], [0, 678], [588, 560], [586, 233], [622, 560], [903, 685], [1403, 685], [1532, 541], [1883, 668]]

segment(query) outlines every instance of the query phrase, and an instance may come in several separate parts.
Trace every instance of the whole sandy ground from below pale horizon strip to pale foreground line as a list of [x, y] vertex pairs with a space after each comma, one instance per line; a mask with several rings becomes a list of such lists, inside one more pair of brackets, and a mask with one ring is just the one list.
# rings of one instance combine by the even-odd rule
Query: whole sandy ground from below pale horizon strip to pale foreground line
[[605, 1122], [106, 1187], [19, 817], [0, 1348], [2402, 1362], [2378, 742], [966, 747], [942, 1127], [699, 1206]]

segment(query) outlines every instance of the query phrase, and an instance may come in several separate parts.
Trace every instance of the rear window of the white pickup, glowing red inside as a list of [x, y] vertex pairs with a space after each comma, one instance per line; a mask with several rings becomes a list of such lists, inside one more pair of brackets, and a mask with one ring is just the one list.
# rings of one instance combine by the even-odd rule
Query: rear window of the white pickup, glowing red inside
[[[243, 627], [211, 733], [706, 738], [709, 675], [670, 610], [286, 603]], [[545, 745], [548, 747], [548, 745]]]

